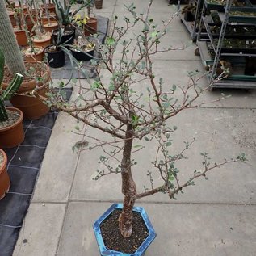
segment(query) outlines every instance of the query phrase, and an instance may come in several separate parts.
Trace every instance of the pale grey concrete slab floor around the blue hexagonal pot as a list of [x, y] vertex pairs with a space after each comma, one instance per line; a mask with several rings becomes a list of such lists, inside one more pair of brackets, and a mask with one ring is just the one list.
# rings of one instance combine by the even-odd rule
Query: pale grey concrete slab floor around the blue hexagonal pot
[[[104, 0], [96, 15], [125, 15], [123, 4], [131, 0]], [[148, 1], [137, 1], [140, 11]], [[175, 7], [167, 0], [155, 0], [152, 16], [161, 21], [174, 14]], [[135, 27], [134, 31], [139, 30]], [[166, 85], [187, 82], [187, 71], [203, 72], [195, 44], [183, 24], [174, 19], [163, 44], [183, 51], [162, 54], [155, 58], [156, 73]], [[200, 81], [203, 87], [208, 82]], [[202, 101], [212, 101], [221, 93], [232, 97], [193, 111], [184, 111], [172, 120], [178, 126], [174, 134], [174, 149], [180, 141], [196, 143], [181, 163], [184, 177], [200, 165], [199, 152], [211, 153], [212, 159], [246, 153], [247, 164], [233, 164], [214, 170], [188, 187], [177, 201], [166, 195], [153, 195], [136, 205], [145, 207], [157, 232], [157, 238], [147, 256], [253, 256], [256, 255], [256, 90], [216, 90], [205, 92]], [[15, 256], [99, 256], [92, 224], [113, 203], [122, 201], [120, 177], [91, 178], [97, 169], [99, 151], [72, 153], [72, 145], [81, 137], [71, 132], [75, 121], [61, 113], [48, 143], [40, 177], [31, 205], [19, 233]], [[86, 129], [90, 132], [90, 129]], [[97, 132], [94, 135], [98, 136]], [[176, 147], [176, 148], [175, 148]], [[138, 170], [148, 165], [153, 147], [136, 155], [141, 160]], [[148, 170], [148, 169], [146, 169]], [[137, 188], [149, 184], [146, 173], [135, 170]]]

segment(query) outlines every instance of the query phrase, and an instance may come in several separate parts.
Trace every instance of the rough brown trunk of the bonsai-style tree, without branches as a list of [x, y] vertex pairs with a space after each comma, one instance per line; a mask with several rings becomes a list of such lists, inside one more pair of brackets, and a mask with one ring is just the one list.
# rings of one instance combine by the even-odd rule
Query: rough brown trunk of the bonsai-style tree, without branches
[[132, 124], [127, 125], [126, 141], [122, 159], [122, 193], [124, 194], [124, 207], [119, 217], [119, 229], [123, 237], [132, 235], [132, 208], [136, 199], [136, 184], [132, 178], [131, 153], [133, 128]]

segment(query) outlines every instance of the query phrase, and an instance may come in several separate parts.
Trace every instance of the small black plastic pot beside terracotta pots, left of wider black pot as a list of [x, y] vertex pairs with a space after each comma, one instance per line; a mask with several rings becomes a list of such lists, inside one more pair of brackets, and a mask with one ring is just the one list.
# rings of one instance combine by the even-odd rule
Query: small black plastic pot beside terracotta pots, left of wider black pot
[[52, 52], [50, 49], [54, 45], [49, 45], [44, 48], [44, 53], [47, 54], [48, 65], [51, 68], [61, 68], [65, 65], [65, 52], [61, 48], [57, 48], [56, 52]]

